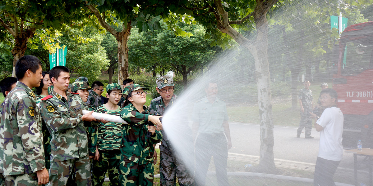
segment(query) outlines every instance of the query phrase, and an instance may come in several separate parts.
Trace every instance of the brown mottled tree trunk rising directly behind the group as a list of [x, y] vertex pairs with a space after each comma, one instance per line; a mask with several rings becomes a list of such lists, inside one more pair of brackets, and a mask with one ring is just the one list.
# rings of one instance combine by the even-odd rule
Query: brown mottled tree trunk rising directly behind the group
[[127, 23], [127, 28], [123, 24], [123, 30], [116, 36], [118, 42], [118, 83], [128, 78], [128, 38], [131, 35], [131, 22]]

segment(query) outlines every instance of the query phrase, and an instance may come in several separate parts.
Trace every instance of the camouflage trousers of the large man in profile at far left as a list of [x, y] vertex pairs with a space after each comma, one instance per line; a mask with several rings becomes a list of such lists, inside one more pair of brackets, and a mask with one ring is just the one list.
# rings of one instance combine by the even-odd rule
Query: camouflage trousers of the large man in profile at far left
[[36, 173], [4, 176], [6, 186], [29, 186], [38, 185]]

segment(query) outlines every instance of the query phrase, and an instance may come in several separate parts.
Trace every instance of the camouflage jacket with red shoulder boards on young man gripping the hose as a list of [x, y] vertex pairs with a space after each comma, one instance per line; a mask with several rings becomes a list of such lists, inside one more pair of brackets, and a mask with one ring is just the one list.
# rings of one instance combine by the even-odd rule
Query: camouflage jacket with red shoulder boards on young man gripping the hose
[[71, 160], [88, 155], [87, 131], [82, 110], [89, 110], [78, 94], [66, 91], [65, 97], [54, 92], [40, 102], [41, 116], [52, 135], [51, 162]]

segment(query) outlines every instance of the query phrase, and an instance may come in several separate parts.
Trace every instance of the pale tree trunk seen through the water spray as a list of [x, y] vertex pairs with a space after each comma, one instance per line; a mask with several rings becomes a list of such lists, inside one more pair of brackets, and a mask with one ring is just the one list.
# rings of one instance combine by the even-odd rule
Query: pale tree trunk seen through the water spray
[[270, 88], [270, 74], [268, 63], [268, 22], [266, 9], [257, 6], [254, 9], [254, 21], [257, 28], [257, 54], [255, 61], [257, 70], [257, 90], [260, 119], [260, 162], [259, 169], [271, 172], [276, 169], [273, 155], [273, 122], [272, 122], [272, 97]]

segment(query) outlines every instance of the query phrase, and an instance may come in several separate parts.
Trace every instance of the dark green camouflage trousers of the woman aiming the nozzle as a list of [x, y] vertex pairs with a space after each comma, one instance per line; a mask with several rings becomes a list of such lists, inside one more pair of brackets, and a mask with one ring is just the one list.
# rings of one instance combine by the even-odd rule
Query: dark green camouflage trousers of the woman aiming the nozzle
[[135, 163], [125, 157], [120, 158], [119, 182], [121, 186], [152, 186], [154, 164]]

